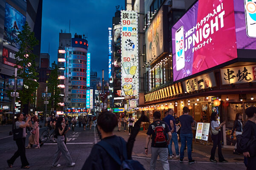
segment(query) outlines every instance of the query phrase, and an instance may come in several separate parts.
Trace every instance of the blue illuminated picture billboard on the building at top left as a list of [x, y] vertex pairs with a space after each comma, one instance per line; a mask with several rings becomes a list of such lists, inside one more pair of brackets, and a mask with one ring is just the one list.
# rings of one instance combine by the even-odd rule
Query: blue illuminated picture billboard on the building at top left
[[6, 3], [4, 17], [4, 33], [3, 40], [13, 47], [20, 48], [17, 43], [18, 32], [23, 31], [23, 26], [26, 23], [26, 17], [17, 11], [15, 8]]

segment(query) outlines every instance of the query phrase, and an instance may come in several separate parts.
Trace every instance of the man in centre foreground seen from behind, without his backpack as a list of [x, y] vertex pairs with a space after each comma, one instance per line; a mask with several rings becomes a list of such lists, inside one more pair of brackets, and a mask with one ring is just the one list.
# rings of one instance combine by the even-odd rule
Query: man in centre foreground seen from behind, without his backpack
[[[113, 134], [117, 126], [117, 118], [111, 112], [99, 115], [97, 119], [99, 131], [102, 133], [102, 141], [107, 142], [114, 152], [121, 157], [122, 142], [119, 136]], [[90, 156], [86, 159], [82, 170], [119, 170], [120, 165], [99, 145], [94, 145]]]

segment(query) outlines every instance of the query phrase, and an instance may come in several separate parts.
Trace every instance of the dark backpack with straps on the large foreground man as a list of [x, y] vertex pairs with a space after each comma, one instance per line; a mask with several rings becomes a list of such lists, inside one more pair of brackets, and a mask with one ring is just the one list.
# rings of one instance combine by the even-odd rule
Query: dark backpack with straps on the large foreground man
[[100, 141], [96, 145], [101, 146], [120, 166], [121, 170], [145, 170], [142, 164], [139, 161], [128, 159], [127, 158], [127, 150], [126, 150], [126, 142], [124, 139], [120, 138], [122, 142], [122, 160], [113, 150], [111, 145], [109, 145], [105, 141]]

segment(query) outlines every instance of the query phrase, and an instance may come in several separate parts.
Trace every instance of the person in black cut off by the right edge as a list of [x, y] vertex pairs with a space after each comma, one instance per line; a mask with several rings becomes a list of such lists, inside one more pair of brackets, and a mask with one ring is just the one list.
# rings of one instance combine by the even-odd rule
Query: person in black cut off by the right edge
[[255, 170], [256, 167], [256, 107], [245, 110], [248, 121], [244, 125], [239, 147], [247, 160], [247, 170]]

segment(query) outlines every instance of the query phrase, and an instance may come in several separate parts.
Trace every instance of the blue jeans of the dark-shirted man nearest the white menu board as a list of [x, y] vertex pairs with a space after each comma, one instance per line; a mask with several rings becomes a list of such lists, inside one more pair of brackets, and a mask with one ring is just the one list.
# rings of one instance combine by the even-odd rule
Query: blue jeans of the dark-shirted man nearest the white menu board
[[192, 133], [188, 133], [188, 134], [180, 133], [180, 140], [181, 140], [180, 159], [184, 159], [184, 150], [187, 144], [188, 158], [189, 160], [192, 160], [192, 156], [191, 156], [192, 155], [192, 148], [191, 148], [192, 139], [193, 139]]

